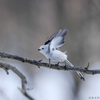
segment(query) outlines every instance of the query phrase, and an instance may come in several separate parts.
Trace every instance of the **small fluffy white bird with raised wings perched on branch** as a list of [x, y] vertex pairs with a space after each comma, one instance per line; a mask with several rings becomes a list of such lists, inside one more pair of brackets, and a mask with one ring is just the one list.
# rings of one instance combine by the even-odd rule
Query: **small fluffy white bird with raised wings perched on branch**
[[[44, 45], [40, 46], [38, 51], [41, 52], [51, 62], [66, 62], [71, 67], [74, 67], [74, 65], [70, 61], [68, 61], [65, 52], [61, 52], [59, 50], [59, 47], [61, 47], [65, 43], [64, 36], [66, 34], [66, 29], [60, 30], [58, 33], [53, 34], [46, 40]], [[81, 79], [85, 80], [83, 75], [79, 71], [76, 72]]]

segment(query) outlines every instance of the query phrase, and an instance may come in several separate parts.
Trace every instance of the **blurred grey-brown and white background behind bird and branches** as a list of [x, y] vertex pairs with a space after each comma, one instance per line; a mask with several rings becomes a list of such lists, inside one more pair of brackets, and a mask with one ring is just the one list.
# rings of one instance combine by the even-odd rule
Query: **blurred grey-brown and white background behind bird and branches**
[[[0, 52], [34, 60], [48, 60], [38, 52], [46, 38], [68, 29], [68, 60], [75, 66], [100, 69], [100, 0], [0, 0]], [[100, 99], [100, 75], [58, 71], [0, 58], [12, 64], [28, 79], [27, 91], [35, 100]], [[20, 78], [0, 69], [0, 100], [28, 100], [18, 90]]]

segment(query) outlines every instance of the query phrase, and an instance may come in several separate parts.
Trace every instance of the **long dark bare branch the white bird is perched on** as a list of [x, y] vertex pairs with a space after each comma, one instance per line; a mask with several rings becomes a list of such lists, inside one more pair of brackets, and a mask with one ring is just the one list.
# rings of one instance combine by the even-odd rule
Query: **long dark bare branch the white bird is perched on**
[[65, 66], [60, 66], [59, 64], [48, 64], [48, 63], [44, 63], [44, 62], [41, 62], [41, 61], [36, 61], [36, 60], [33, 60], [33, 59], [29, 59], [29, 58], [24, 58], [24, 57], [20, 57], [20, 56], [17, 56], [17, 55], [11, 55], [11, 54], [7, 54], [7, 53], [3, 53], [3, 52], [0, 52], [0, 56], [2, 58], [10, 58], [10, 59], [14, 59], [14, 60], [18, 60], [18, 61], [21, 61], [21, 62], [24, 62], [24, 63], [30, 63], [30, 64], [33, 64], [33, 65], [36, 65], [36, 66], [42, 66], [42, 67], [47, 67], [47, 68], [52, 68], [52, 69], [57, 69], [57, 70], [77, 70], [77, 71], [80, 71], [80, 72], [84, 72], [86, 74], [100, 74], [100, 69], [96, 69], [96, 70], [89, 70], [88, 67], [89, 67], [89, 63], [87, 65], [87, 67], [85, 68], [82, 68], [82, 67], [71, 67], [71, 66], [68, 66], [68, 65], [65, 65]]

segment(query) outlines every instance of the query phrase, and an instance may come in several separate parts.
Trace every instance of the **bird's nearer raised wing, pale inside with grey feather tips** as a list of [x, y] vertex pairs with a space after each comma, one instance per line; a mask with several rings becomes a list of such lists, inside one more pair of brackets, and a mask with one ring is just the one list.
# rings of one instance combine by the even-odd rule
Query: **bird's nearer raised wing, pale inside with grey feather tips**
[[67, 30], [64, 29], [63, 31], [60, 30], [51, 40], [50, 42], [50, 48], [59, 48], [61, 47], [64, 43], [64, 36], [67, 34]]

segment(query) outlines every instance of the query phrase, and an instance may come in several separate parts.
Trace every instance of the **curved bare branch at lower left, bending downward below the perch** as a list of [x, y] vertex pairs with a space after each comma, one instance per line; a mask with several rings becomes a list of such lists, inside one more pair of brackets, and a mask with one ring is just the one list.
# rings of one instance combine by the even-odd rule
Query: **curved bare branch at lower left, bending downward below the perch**
[[23, 73], [21, 73], [17, 68], [15, 68], [14, 66], [4, 63], [4, 62], [0, 62], [0, 68], [3, 68], [6, 73], [8, 74], [8, 70], [12, 70], [15, 74], [17, 74], [21, 80], [22, 80], [22, 89], [19, 89], [24, 96], [26, 96], [27, 98], [29, 98], [30, 100], [34, 100], [27, 92], [26, 92], [26, 84], [27, 84], [27, 80], [26, 77], [23, 75]]

